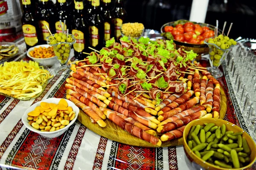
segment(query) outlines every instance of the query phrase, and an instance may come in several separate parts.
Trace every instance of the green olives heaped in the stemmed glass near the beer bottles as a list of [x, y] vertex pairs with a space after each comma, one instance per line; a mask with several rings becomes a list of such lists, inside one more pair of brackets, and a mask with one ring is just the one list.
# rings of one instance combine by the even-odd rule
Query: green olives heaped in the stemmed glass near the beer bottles
[[47, 44], [53, 46], [55, 56], [61, 65], [65, 65], [70, 56], [72, 45], [76, 39], [72, 34], [55, 33], [54, 36], [47, 37]]

